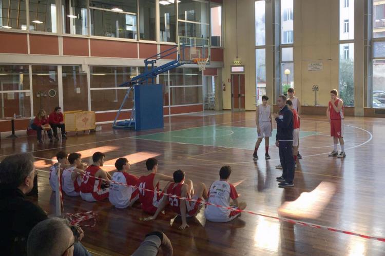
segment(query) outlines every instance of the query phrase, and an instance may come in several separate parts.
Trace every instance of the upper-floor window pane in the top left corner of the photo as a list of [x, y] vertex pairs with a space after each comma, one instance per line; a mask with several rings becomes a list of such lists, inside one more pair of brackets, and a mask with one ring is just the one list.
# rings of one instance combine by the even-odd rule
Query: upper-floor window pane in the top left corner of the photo
[[0, 29], [27, 30], [25, 1], [0, 0]]

